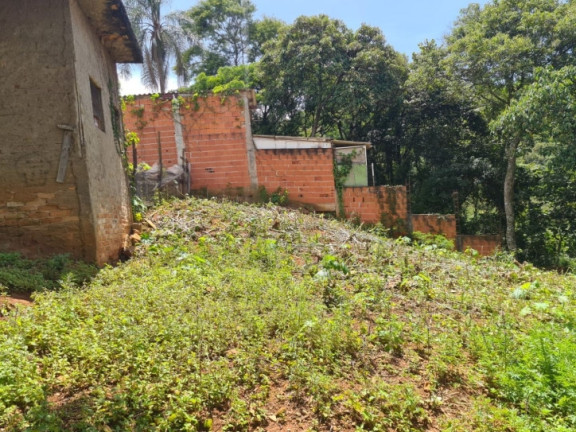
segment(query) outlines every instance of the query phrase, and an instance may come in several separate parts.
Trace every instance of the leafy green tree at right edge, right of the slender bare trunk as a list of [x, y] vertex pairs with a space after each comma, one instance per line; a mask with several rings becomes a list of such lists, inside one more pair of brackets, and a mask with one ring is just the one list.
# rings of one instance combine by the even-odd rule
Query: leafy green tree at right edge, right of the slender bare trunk
[[522, 252], [525, 258], [544, 265], [560, 266], [563, 253], [576, 255], [575, 125], [574, 66], [538, 69], [534, 82], [493, 125], [503, 135], [536, 144], [523, 158], [538, 182], [523, 215], [524, 225], [535, 238], [522, 239]]

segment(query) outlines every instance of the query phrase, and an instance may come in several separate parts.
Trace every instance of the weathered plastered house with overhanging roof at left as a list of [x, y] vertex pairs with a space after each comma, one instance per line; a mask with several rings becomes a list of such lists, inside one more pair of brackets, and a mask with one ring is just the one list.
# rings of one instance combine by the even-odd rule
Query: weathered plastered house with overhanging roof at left
[[116, 63], [142, 54], [120, 0], [0, 11], [0, 252], [118, 258], [131, 226]]

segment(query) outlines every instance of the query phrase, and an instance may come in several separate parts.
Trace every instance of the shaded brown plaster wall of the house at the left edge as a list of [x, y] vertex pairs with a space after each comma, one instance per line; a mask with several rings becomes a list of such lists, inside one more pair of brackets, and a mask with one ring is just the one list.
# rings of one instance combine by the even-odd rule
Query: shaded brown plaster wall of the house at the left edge
[[78, 191], [55, 182], [61, 123], [75, 121], [67, 2], [2, 3], [0, 13], [0, 250], [84, 254]]

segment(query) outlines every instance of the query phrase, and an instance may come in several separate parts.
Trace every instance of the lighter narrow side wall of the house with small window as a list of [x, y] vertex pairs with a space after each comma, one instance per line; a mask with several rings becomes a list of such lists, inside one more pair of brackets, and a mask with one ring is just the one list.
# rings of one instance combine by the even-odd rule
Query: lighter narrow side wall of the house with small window
[[[131, 210], [126, 175], [122, 166], [122, 119], [116, 66], [103, 48], [76, 0], [71, 0], [74, 34], [78, 123], [74, 162], [76, 182], [87, 184], [79, 194], [84, 240], [98, 263], [118, 258], [130, 232]], [[104, 130], [93, 120], [90, 80], [100, 89]], [[78, 171], [76, 171], [78, 167]], [[80, 186], [79, 186], [80, 188]], [[91, 214], [87, 211], [90, 210]], [[91, 242], [95, 247], [92, 247]]]

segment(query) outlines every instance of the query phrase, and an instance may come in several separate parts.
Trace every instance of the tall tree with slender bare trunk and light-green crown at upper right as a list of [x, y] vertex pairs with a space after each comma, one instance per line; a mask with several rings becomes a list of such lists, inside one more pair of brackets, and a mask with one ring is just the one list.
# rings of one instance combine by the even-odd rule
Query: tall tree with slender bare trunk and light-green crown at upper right
[[[472, 4], [447, 39], [452, 71], [471, 86], [489, 121], [499, 116], [534, 80], [537, 67], [574, 61], [574, 31], [566, 17], [574, 3], [560, 0], [494, 0]], [[572, 23], [573, 24], [573, 23]], [[508, 249], [516, 249], [514, 186], [519, 134], [496, 134], [506, 162], [504, 211]]]

